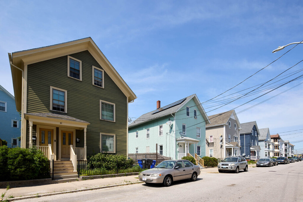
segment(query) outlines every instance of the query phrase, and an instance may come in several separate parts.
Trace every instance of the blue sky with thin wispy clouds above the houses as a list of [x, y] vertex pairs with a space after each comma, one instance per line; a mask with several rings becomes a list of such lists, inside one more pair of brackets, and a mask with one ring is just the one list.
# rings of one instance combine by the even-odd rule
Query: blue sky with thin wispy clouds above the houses
[[[0, 0], [0, 84], [13, 94], [8, 52], [90, 36], [138, 97], [129, 104], [130, 117], [155, 110], [157, 100], [164, 106], [197, 94], [204, 102], [293, 47], [271, 53], [278, 46], [302, 41], [302, 6], [301, 1]], [[301, 61], [302, 52], [303, 44], [296, 46], [230, 93], [277, 76]], [[300, 63], [285, 74], [301, 68]], [[236, 112], [300, 82], [287, 84]], [[272, 134], [302, 129], [302, 86], [239, 113], [240, 122], [257, 121], [259, 128], [269, 127]], [[228, 111], [248, 100], [205, 111], [210, 111], [208, 115]], [[282, 138], [298, 141], [303, 134]], [[303, 142], [295, 145], [303, 150]]]

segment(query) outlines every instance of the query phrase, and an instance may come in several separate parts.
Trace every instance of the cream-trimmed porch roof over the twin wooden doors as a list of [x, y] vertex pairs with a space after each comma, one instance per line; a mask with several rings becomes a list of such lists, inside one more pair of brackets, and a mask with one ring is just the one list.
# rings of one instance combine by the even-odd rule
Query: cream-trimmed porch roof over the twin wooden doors
[[89, 122], [73, 118], [71, 116], [55, 113], [28, 113], [24, 114], [25, 119], [33, 124], [45, 124], [50, 126], [71, 126], [78, 129], [86, 128]]

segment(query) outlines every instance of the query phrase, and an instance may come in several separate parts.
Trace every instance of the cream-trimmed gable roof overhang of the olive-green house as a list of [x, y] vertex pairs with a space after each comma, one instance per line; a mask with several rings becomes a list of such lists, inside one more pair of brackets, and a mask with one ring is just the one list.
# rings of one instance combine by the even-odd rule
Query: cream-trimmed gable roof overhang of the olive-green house
[[[25, 65], [86, 50], [89, 51], [89, 53], [95, 58], [99, 65], [101, 65], [108, 76], [125, 94], [125, 96], [128, 98], [128, 102], [133, 101], [137, 98], [135, 93], [128, 87], [128, 85], [118, 74], [112, 64], [108, 61], [105, 55], [103, 55], [102, 51], [98, 48], [92, 38], [88, 37], [61, 44], [13, 52], [12, 54], [8, 53], [17, 110], [20, 111], [22, 108], [22, 71], [24, 71]], [[24, 77], [26, 78], [27, 75], [24, 75]]]

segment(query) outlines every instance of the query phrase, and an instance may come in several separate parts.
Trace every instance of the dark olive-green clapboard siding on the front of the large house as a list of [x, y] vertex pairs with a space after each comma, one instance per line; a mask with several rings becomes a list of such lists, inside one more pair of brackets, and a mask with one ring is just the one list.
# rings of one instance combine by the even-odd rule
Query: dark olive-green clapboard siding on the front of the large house
[[[27, 113], [54, 112], [50, 86], [67, 90], [67, 113], [62, 114], [91, 123], [86, 132], [87, 154], [100, 152], [100, 133], [116, 134], [116, 154], [126, 154], [126, 96], [105, 71], [104, 88], [92, 85], [92, 66], [102, 67], [88, 51], [69, 56], [82, 61], [82, 81], [68, 77], [67, 55], [28, 65]], [[115, 122], [100, 120], [100, 100], [115, 103]], [[81, 145], [82, 133], [76, 132]]]

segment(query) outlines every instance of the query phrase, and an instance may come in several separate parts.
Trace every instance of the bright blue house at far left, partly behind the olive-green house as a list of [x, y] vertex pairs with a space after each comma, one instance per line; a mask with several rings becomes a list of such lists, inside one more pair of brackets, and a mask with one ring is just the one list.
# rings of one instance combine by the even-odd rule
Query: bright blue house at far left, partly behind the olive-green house
[[20, 147], [20, 115], [16, 110], [15, 98], [0, 85], [0, 138], [8, 147]]

